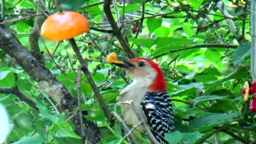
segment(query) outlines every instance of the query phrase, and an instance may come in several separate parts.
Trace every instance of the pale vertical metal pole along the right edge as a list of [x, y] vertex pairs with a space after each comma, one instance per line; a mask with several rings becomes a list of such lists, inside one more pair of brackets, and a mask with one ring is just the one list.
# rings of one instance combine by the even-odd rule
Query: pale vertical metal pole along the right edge
[[256, 0], [251, 1], [251, 72], [252, 80], [256, 81]]

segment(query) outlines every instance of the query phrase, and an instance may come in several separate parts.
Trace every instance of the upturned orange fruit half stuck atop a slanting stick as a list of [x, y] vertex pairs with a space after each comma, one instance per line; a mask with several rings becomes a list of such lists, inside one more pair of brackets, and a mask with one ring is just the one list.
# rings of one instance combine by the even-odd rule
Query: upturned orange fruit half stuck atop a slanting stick
[[89, 29], [90, 24], [82, 14], [65, 11], [48, 17], [41, 27], [41, 35], [52, 41], [62, 41], [81, 35]]

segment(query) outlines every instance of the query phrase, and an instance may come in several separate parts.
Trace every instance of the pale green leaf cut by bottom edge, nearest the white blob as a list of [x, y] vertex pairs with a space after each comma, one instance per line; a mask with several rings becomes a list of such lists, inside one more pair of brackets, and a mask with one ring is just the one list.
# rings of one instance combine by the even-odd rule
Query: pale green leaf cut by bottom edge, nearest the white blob
[[20, 140], [13, 142], [12, 144], [41, 144], [45, 141], [45, 138], [39, 135], [33, 135], [32, 137], [24, 137]]

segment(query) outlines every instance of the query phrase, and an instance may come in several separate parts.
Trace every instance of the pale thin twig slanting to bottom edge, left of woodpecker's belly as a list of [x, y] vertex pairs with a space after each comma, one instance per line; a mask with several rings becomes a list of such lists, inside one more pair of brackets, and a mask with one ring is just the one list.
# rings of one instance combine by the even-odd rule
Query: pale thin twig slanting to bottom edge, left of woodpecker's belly
[[116, 117], [116, 119], [118, 120], [119, 123], [121, 123], [121, 125], [123, 126], [123, 130], [127, 133], [127, 137], [128, 137], [128, 141], [131, 143], [137, 143], [134, 135], [132, 133], [128, 134], [131, 130], [129, 129], [129, 127], [125, 124], [124, 120], [121, 118], [121, 116], [119, 116], [116, 111], [112, 111], [113, 116]]

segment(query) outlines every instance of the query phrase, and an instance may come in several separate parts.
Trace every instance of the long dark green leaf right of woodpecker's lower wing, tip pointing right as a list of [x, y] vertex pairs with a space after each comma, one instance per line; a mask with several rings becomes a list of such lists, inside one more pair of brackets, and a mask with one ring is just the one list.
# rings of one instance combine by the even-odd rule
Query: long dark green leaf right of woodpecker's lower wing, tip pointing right
[[201, 117], [196, 117], [192, 121], [190, 121], [190, 129], [195, 130], [209, 130], [211, 127], [219, 126], [220, 124], [224, 124], [227, 122], [232, 122], [233, 118], [236, 117], [239, 113], [237, 111], [233, 111], [229, 114], [221, 114], [221, 113], [210, 113]]

